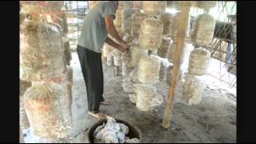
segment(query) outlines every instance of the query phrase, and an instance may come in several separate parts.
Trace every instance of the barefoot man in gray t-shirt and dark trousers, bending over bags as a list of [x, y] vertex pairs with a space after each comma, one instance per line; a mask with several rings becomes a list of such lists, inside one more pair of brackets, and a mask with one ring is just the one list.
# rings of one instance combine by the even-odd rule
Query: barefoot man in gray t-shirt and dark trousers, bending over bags
[[[110, 104], [102, 97], [102, 47], [104, 42], [121, 50], [128, 50], [126, 42], [122, 41], [114, 27], [115, 12], [118, 1], [98, 2], [84, 19], [80, 38], [78, 39], [78, 58], [82, 74], [86, 82], [89, 114], [95, 118], [105, 118], [99, 110], [100, 104]], [[107, 37], [110, 34], [118, 43]]]

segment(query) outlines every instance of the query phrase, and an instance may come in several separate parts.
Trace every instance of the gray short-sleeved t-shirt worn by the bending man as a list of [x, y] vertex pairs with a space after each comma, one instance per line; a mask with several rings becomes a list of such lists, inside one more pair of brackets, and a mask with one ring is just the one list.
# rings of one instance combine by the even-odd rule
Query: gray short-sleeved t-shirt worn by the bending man
[[78, 45], [96, 53], [102, 52], [102, 47], [107, 38], [106, 23], [104, 17], [110, 15], [115, 18], [113, 2], [98, 2], [84, 19]]

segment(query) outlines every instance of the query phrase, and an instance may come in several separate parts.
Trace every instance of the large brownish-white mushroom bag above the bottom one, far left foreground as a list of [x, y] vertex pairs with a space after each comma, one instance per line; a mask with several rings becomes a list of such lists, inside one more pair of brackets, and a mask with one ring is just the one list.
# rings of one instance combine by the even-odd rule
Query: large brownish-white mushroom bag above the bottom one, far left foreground
[[63, 74], [66, 65], [58, 30], [43, 22], [27, 22], [23, 30], [22, 79], [34, 81]]

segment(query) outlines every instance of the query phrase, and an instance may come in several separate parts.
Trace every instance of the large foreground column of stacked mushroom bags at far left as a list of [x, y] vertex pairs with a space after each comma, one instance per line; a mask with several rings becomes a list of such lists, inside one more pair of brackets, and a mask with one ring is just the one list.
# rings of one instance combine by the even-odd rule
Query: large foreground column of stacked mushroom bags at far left
[[27, 118], [40, 138], [67, 138], [70, 130], [71, 92], [62, 34], [46, 21], [38, 3], [25, 6], [30, 19], [21, 24], [21, 75], [32, 86], [24, 94]]

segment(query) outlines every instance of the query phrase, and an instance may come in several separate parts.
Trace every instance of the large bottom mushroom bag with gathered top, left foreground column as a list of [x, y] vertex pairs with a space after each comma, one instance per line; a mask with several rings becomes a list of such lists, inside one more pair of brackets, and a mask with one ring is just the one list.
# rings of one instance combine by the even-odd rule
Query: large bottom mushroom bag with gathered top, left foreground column
[[65, 90], [54, 82], [36, 83], [24, 94], [26, 114], [33, 133], [42, 138], [66, 138], [70, 126], [63, 116]]

